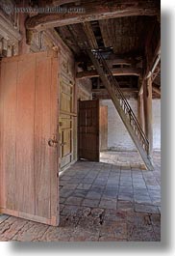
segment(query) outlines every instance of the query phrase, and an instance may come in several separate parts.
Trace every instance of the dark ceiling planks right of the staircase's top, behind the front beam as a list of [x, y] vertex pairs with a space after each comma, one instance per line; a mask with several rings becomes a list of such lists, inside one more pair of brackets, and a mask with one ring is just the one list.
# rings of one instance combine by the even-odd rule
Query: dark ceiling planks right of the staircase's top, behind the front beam
[[152, 16], [127, 16], [100, 20], [100, 31], [105, 47], [111, 47], [116, 54], [141, 54], [149, 25], [155, 21]]

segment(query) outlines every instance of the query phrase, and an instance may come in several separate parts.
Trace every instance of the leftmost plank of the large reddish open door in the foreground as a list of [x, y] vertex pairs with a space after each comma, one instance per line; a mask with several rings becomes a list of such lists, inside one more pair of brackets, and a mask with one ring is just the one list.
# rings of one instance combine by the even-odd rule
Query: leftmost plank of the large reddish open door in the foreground
[[[7, 70], [7, 68], [9, 70]], [[10, 210], [15, 210], [17, 207], [16, 190], [15, 187], [11, 184], [11, 181], [15, 181], [15, 168], [13, 168], [12, 172], [7, 172], [6, 170], [12, 169], [12, 166], [15, 166], [15, 118], [16, 118], [16, 73], [15, 73], [15, 64], [10, 63], [10, 65], [5, 64], [2, 66], [1, 74], [4, 81], [3, 87], [1, 88], [2, 92], [2, 103], [3, 103], [3, 120], [1, 126], [1, 134], [2, 134], [2, 144], [4, 145], [2, 149], [2, 173], [4, 179], [6, 177], [7, 185], [6, 191], [8, 197], [6, 197], [5, 191], [4, 194], [4, 206], [7, 204], [7, 207]], [[11, 73], [12, 79], [9, 79], [9, 73]], [[11, 126], [8, 124], [11, 123]], [[6, 130], [3, 133], [3, 130]], [[10, 146], [11, 145], [11, 146]], [[3, 185], [4, 186], [4, 185]], [[5, 187], [4, 187], [5, 189]]]

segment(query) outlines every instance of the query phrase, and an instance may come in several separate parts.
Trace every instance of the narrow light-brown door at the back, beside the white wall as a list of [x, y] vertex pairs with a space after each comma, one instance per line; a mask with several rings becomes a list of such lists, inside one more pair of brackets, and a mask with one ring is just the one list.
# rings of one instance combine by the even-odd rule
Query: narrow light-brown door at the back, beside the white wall
[[100, 151], [108, 150], [108, 106], [100, 106]]

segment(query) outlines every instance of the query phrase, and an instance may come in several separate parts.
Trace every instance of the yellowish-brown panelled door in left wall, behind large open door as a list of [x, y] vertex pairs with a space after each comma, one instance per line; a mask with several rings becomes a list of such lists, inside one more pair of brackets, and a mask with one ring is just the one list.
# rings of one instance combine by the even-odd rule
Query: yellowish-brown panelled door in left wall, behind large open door
[[73, 116], [74, 116], [74, 62], [62, 54], [60, 86], [59, 134], [61, 147], [61, 168], [67, 168], [73, 160]]

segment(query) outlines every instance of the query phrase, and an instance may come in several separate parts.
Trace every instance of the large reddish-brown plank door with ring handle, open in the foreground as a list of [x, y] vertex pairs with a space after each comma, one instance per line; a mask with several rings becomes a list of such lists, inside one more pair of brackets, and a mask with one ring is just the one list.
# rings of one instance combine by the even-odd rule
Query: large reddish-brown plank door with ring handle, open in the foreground
[[0, 213], [58, 225], [58, 53], [1, 61]]

